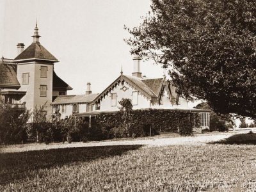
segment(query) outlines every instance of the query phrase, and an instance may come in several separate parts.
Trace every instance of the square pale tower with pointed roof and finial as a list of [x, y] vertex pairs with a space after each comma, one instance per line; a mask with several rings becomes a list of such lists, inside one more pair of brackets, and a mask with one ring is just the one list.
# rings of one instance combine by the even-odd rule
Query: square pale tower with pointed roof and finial
[[37, 22], [32, 37], [33, 43], [14, 59], [19, 90], [26, 92], [21, 102], [26, 102], [26, 108], [31, 111], [44, 106], [49, 117], [52, 111], [53, 66], [58, 60], [40, 44]]

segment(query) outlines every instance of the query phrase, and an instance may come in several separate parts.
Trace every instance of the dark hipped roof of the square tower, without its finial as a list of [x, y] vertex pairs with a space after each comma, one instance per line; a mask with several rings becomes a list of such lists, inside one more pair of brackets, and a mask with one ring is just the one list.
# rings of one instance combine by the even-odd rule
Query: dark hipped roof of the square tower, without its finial
[[40, 42], [34, 42], [33, 44], [29, 45], [29, 47], [22, 51], [14, 60], [20, 61], [33, 59], [58, 62], [51, 52], [47, 51], [47, 49], [45, 49]]

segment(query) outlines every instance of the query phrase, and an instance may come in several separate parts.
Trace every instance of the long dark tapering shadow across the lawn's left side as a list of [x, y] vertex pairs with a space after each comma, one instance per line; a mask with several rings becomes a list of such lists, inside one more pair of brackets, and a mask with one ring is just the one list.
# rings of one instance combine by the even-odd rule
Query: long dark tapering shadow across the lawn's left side
[[54, 148], [0, 154], [0, 185], [21, 180], [31, 175], [31, 171], [90, 162], [111, 156], [120, 156], [129, 150], [136, 150], [143, 145], [115, 145], [100, 147]]

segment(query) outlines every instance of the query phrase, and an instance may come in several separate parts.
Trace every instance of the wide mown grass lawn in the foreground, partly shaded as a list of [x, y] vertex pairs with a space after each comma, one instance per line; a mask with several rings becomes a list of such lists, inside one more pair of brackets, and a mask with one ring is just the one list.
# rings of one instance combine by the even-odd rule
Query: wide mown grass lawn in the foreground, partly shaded
[[256, 191], [254, 145], [141, 145], [0, 154], [0, 191]]

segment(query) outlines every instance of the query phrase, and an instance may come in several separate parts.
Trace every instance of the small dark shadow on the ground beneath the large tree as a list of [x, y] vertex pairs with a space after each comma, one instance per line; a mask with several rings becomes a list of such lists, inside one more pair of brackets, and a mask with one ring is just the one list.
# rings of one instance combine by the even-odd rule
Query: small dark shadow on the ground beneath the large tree
[[209, 144], [256, 145], [256, 133], [234, 134], [225, 140], [214, 141]]

